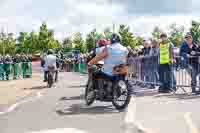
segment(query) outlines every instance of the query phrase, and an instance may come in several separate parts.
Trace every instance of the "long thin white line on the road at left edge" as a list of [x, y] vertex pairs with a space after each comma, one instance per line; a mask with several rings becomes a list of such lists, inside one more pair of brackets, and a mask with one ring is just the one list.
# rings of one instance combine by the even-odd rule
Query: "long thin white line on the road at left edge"
[[37, 98], [40, 98], [40, 97], [42, 97], [42, 94], [41, 94], [41, 92], [38, 92], [37, 95], [36, 95], [36, 97], [30, 98], [30, 99], [27, 99], [27, 100], [22, 100], [20, 102], [17, 102], [15, 104], [11, 105], [6, 111], [0, 112], [0, 115], [4, 115], [6, 113], [10, 113], [13, 110], [15, 110], [19, 105], [21, 105], [23, 103], [27, 103], [27, 102], [33, 101], [34, 99], [37, 99]]

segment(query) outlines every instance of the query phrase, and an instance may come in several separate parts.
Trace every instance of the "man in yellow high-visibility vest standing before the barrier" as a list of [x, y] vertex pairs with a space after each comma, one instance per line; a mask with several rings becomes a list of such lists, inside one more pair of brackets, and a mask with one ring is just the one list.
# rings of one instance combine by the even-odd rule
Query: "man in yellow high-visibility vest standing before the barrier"
[[173, 63], [173, 49], [172, 44], [167, 38], [167, 34], [162, 33], [160, 35], [160, 56], [159, 56], [159, 79], [161, 86], [159, 92], [169, 93], [171, 91], [171, 78], [172, 69], [171, 64]]

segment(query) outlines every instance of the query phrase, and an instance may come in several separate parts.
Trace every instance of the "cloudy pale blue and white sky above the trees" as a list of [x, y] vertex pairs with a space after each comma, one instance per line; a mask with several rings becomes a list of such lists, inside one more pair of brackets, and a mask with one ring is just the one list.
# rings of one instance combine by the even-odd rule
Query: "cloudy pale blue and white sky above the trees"
[[43, 21], [58, 39], [74, 32], [102, 31], [112, 24], [128, 24], [136, 35], [148, 37], [155, 26], [167, 31], [170, 24], [200, 20], [199, 0], [0, 0], [0, 28], [5, 31], [38, 31]]

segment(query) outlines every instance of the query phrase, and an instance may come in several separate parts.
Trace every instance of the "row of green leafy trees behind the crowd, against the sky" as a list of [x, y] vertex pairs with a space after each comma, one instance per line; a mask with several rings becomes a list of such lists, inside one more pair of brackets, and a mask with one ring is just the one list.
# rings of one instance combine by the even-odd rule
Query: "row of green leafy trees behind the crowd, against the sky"
[[[183, 26], [176, 24], [170, 25], [169, 28], [170, 41], [179, 46], [183, 41], [185, 29]], [[200, 40], [200, 22], [192, 21], [190, 31], [193, 36], [193, 40], [196, 43]], [[143, 44], [143, 38], [135, 36], [128, 25], [120, 25], [118, 33], [121, 36], [122, 44], [124, 46], [130, 46], [135, 48], [138, 45]], [[162, 30], [159, 26], [153, 29], [152, 36], [155, 39], [160, 38]], [[106, 27], [102, 33], [93, 29], [89, 32], [85, 39], [81, 33], [77, 32], [73, 36], [67, 36], [60, 43], [54, 37], [54, 31], [49, 29], [47, 24], [43, 22], [39, 27], [38, 32], [19, 32], [17, 37], [13, 33], [5, 33], [3, 30], [0, 33], [0, 54], [16, 54], [27, 53], [36, 54], [45, 52], [48, 49], [63, 49], [68, 52], [72, 49], [79, 49], [81, 52], [87, 52], [96, 47], [96, 42], [99, 39], [110, 39], [112, 32], [109, 27]]]

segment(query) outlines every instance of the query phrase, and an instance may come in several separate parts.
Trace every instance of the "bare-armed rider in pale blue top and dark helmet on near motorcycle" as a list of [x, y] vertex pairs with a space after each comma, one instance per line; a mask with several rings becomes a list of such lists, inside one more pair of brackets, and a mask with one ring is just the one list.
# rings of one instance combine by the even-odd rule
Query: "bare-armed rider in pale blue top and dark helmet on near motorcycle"
[[96, 72], [94, 74], [95, 78], [103, 78], [109, 80], [115, 80], [113, 75], [113, 68], [120, 64], [127, 63], [128, 50], [121, 43], [120, 36], [113, 33], [111, 36], [111, 44], [105, 46], [103, 50], [100, 51], [88, 65], [95, 65], [98, 61], [104, 60], [104, 65], [102, 71]]

